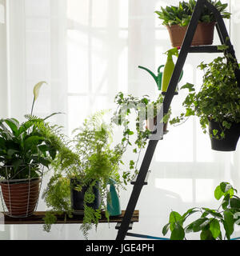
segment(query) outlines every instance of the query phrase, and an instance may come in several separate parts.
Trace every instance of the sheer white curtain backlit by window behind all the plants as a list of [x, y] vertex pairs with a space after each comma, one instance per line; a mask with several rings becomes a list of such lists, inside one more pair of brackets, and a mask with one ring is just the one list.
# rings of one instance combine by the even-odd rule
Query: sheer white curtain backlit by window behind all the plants
[[[6, 111], [1, 114], [21, 119], [29, 113], [32, 89], [40, 80], [49, 85], [41, 90], [35, 114], [65, 112], [53, 122], [66, 126], [67, 134], [87, 114], [114, 108], [118, 91], [157, 98], [153, 78], [138, 66], [156, 71], [165, 64], [163, 53], [170, 49], [170, 40], [154, 10], [175, 3], [178, 1], [8, 0], [9, 44], [3, 53], [8, 54], [9, 75], [8, 86], [1, 87], [1, 95], [6, 94], [2, 98], [8, 99], [5, 104], [9, 107], [3, 107]], [[237, 0], [231, 1], [231, 11], [233, 18], [226, 26], [239, 59]], [[217, 33], [214, 43], [219, 43]], [[181, 84], [200, 85], [202, 73], [196, 67], [216, 56], [190, 55]], [[173, 115], [180, 113], [185, 97], [181, 92], [174, 98]], [[116, 140], [119, 134], [118, 131]], [[183, 214], [194, 206], [217, 207], [214, 188], [220, 182], [230, 182], [240, 191], [239, 156], [239, 145], [233, 153], [210, 150], [210, 140], [202, 134], [197, 119], [170, 126], [169, 134], [159, 142], [154, 154], [149, 185], [139, 198], [136, 209], [140, 210], [140, 221], [134, 224], [134, 233], [159, 237], [170, 210]], [[128, 154], [124, 161], [134, 157]], [[128, 186], [121, 192], [122, 209], [126, 209], [131, 189]], [[46, 210], [42, 200], [38, 210]], [[114, 239], [114, 226], [100, 224], [97, 233], [90, 233], [90, 239]], [[56, 225], [50, 234], [44, 233], [42, 226], [12, 226], [10, 231], [11, 239], [82, 239], [78, 225]], [[239, 234], [237, 229], [234, 235]]]

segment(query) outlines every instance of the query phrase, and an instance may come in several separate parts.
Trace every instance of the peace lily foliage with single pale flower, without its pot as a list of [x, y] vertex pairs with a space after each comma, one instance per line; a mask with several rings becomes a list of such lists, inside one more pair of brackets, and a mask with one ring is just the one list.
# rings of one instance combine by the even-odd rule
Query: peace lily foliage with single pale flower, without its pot
[[[34, 102], [42, 84], [34, 86]], [[46, 118], [26, 115], [26, 122], [16, 118], [0, 120], [0, 176], [2, 179], [37, 178], [41, 174], [40, 166], [49, 168], [50, 162], [58, 153], [58, 144], [54, 140], [54, 126]]]

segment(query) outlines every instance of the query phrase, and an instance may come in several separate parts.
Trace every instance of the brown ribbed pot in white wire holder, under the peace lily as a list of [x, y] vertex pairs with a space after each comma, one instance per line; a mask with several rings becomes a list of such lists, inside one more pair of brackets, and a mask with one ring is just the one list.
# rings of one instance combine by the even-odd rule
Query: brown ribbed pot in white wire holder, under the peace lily
[[36, 208], [41, 178], [1, 182], [2, 197], [11, 217], [27, 217]]

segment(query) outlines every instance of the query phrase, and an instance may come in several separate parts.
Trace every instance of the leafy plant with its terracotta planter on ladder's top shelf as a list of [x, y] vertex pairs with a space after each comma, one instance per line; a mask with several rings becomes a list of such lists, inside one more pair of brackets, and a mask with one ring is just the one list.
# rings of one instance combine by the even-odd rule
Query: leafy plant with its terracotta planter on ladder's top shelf
[[[227, 4], [222, 4], [220, 1], [208, 1], [222, 14], [222, 18], [230, 18], [230, 13], [226, 12]], [[196, 1], [190, 0], [189, 2], [179, 2], [178, 6], [161, 7], [161, 10], [155, 11], [158, 18], [162, 20], [162, 25], [166, 26], [169, 31], [173, 47], [182, 46], [195, 6]], [[214, 38], [215, 23], [214, 14], [204, 6], [192, 46], [211, 45]]]

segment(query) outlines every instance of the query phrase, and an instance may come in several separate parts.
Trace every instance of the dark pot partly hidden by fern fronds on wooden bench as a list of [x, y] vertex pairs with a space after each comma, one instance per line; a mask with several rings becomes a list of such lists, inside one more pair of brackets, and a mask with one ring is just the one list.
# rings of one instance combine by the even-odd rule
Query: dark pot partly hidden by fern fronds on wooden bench
[[[70, 198], [71, 198], [71, 208], [74, 210], [74, 214], [83, 214], [84, 210], [84, 196], [86, 191], [88, 190], [89, 186], [83, 186], [82, 191], [74, 190], [75, 186], [80, 185], [81, 182], [78, 179], [70, 179]], [[96, 186], [93, 187], [94, 192], [94, 202], [87, 203], [86, 205], [93, 208], [94, 210], [99, 209], [101, 198], [100, 198], [100, 192], [98, 190], [99, 183], [96, 183]]]

